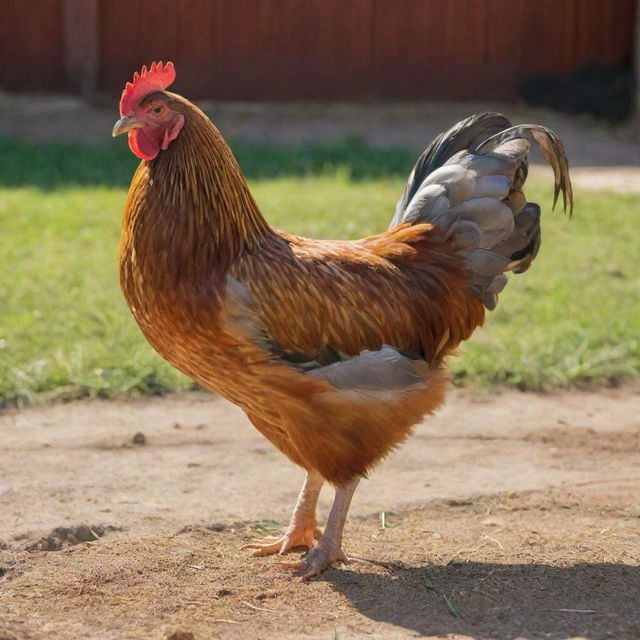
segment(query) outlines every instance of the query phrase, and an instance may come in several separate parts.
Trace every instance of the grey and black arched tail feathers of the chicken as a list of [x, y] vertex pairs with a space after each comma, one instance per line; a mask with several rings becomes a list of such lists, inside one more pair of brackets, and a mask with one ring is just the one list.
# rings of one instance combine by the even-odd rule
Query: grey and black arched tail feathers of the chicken
[[[498, 131], [496, 132], [496, 129]], [[527, 202], [527, 154], [538, 144], [573, 209], [567, 159], [557, 136], [539, 125], [512, 127], [500, 114], [472, 116], [439, 136], [420, 156], [392, 225], [431, 222], [467, 262], [469, 284], [495, 308], [508, 271], [526, 271], [540, 248], [540, 208]]]

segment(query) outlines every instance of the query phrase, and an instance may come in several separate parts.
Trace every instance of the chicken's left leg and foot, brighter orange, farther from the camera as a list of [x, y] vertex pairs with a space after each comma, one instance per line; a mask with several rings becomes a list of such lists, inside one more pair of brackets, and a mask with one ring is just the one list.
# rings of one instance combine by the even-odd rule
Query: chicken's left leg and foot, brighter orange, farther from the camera
[[317, 471], [308, 471], [284, 535], [254, 540], [242, 548], [255, 549], [254, 556], [283, 554], [295, 547], [313, 548], [322, 533], [316, 520], [316, 505], [323, 483], [324, 478]]

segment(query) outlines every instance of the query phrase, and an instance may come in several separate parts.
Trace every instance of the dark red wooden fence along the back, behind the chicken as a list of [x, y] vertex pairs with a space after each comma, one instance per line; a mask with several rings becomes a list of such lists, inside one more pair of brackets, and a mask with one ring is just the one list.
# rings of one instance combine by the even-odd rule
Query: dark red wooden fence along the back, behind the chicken
[[509, 99], [533, 73], [630, 65], [636, 0], [0, 0], [0, 86], [116, 95], [173, 60], [229, 100]]

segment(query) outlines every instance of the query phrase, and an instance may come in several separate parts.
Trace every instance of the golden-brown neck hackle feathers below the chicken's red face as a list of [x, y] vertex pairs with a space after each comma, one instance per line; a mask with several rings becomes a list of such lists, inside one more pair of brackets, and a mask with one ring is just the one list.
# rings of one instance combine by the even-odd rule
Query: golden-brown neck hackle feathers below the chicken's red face
[[156, 289], [207, 295], [230, 266], [274, 232], [253, 199], [231, 149], [197, 107], [169, 147], [143, 161], [123, 221], [121, 252], [132, 251]]

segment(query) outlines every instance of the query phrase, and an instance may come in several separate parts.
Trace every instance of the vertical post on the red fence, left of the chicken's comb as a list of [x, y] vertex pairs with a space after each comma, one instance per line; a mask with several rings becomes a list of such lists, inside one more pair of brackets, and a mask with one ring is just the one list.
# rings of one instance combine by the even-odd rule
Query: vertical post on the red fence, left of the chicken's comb
[[98, 0], [63, 0], [62, 21], [67, 84], [90, 101], [98, 90]]

